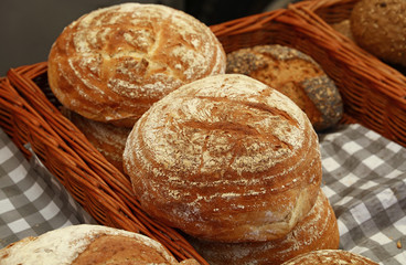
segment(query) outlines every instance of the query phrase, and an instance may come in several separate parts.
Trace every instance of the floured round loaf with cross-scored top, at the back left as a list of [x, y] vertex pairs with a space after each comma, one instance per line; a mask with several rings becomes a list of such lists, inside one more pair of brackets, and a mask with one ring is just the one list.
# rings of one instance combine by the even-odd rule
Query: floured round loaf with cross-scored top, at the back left
[[66, 26], [49, 55], [49, 81], [68, 109], [132, 127], [152, 103], [191, 81], [224, 73], [209, 26], [160, 4], [122, 3]]

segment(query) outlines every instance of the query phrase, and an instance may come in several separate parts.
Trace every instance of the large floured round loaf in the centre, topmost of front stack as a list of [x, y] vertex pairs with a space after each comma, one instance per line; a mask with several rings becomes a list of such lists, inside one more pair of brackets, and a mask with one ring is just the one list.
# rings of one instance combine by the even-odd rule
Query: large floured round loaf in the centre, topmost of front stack
[[124, 167], [146, 212], [222, 242], [285, 236], [314, 204], [321, 181], [306, 114], [238, 74], [194, 81], [156, 103], [129, 135]]

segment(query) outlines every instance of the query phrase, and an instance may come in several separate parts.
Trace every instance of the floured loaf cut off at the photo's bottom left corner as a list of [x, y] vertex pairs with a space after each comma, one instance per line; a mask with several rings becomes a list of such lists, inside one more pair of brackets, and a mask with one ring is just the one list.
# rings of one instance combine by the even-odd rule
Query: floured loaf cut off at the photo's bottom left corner
[[[157, 241], [101, 225], [71, 225], [0, 250], [2, 265], [179, 264]], [[197, 265], [194, 259], [181, 264]]]

